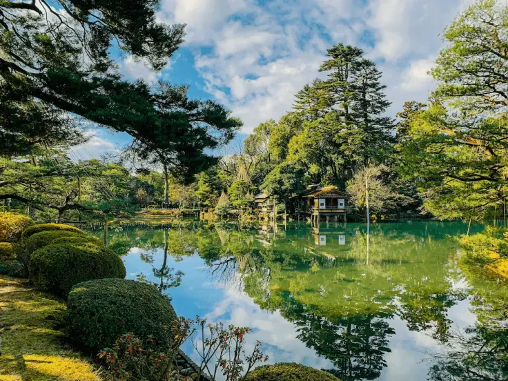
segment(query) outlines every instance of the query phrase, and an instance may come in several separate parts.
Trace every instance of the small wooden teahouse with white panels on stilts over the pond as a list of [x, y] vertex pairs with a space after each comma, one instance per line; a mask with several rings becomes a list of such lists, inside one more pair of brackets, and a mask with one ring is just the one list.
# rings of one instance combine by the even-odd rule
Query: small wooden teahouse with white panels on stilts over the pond
[[291, 198], [295, 213], [309, 217], [313, 223], [323, 219], [346, 222], [348, 195], [336, 186], [308, 186], [300, 195]]

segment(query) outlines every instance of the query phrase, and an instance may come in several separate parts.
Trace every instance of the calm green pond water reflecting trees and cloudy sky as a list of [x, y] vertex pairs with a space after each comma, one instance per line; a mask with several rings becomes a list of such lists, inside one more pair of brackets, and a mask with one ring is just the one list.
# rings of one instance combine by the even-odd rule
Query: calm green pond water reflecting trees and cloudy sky
[[[129, 278], [159, 284], [179, 315], [250, 326], [249, 343], [260, 340], [270, 362], [342, 380], [447, 380], [442, 372], [464, 364], [463, 340], [484, 340], [478, 327], [506, 334], [507, 286], [459, 265], [449, 236], [466, 231], [458, 222], [401, 222], [373, 224], [367, 237], [365, 224], [274, 232], [187, 222], [112, 229], [109, 241]], [[173, 275], [184, 273], [179, 286], [167, 287], [165, 259]], [[496, 380], [507, 375], [498, 363], [470, 367]]]

